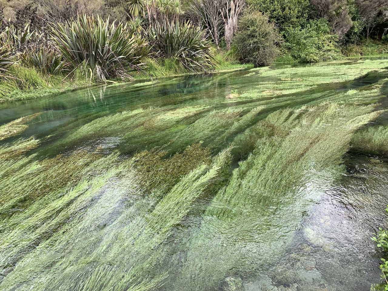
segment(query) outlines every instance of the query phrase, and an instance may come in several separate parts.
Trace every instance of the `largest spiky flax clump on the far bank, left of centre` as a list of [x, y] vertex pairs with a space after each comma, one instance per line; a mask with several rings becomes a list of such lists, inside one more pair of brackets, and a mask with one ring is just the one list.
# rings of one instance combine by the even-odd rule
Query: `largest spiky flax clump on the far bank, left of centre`
[[66, 61], [74, 68], [87, 65], [98, 81], [131, 78], [131, 70], [141, 69], [149, 49], [123, 23], [79, 16], [52, 27], [53, 39]]

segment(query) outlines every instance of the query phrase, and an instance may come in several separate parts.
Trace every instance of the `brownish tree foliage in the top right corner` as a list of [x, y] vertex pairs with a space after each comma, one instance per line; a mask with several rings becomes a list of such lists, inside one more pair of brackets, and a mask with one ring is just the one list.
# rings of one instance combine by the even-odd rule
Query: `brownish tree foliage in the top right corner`
[[388, 19], [388, 2], [386, 0], [358, 0], [360, 18], [365, 24], [366, 37], [369, 40], [376, 25]]

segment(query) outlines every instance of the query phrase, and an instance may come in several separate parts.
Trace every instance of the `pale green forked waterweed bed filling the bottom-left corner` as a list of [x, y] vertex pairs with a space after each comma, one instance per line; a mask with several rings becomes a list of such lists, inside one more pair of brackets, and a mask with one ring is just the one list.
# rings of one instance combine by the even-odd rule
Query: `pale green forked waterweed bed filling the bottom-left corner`
[[[171, 229], [175, 227], [175, 225], [178, 225], [178, 223], [193, 210], [193, 206], [195, 205], [193, 203], [195, 203], [201, 195], [206, 195], [206, 189], [210, 186], [212, 181], [220, 175], [222, 168], [227, 165], [229, 154], [230, 150], [225, 150], [213, 160], [211, 166], [201, 165], [191, 171], [191, 173], [185, 175], [182, 180], [156, 204], [154, 210], [152, 210], [149, 215], [146, 215], [149, 211], [149, 207], [145, 208], [146, 212], [143, 212], [146, 217], [145, 220], [137, 215], [131, 218], [131, 209], [123, 213], [121, 213], [121, 210], [117, 213], [118, 203], [120, 203], [120, 200], [125, 198], [125, 196], [131, 195], [131, 189], [133, 189], [132, 191], [135, 191], [134, 193], [137, 193], [135, 201], [142, 201], [141, 192], [138, 192], [135, 186], [137, 184], [136, 173], [130, 170], [131, 164], [127, 163], [126, 165], [118, 166], [116, 170], [109, 171], [109, 173], [103, 177], [95, 178], [91, 182], [81, 182], [77, 187], [48, 204], [25, 222], [16, 225], [16, 228], [7, 234], [7, 239], [1, 243], [0, 251], [7, 249], [7, 246], [9, 246], [14, 239], [25, 233], [26, 230], [29, 231], [29, 234], [25, 236], [23, 243], [18, 244], [17, 248], [13, 248], [12, 252], [8, 253], [6, 258], [4, 256], [2, 257], [2, 265], [4, 265], [5, 262], [9, 262], [10, 258], [17, 257], [17, 253], [20, 253], [24, 248], [28, 248], [31, 242], [38, 237], [42, 235], [47, 236], [47, 230], [52, 229], [56, 225], [59, 227], [51, 238], [37, 246], [36, 251], [32, 251], [24, 258], [19, 257], [19, 262], [14, 271], [1, 282], [2, 287], [8, 289], [17, 286], [20, 290], [24, 290], [28, 288], [28, 285], [25, 285], [23, 281], [28, 278], [29, 274], [35, 273], [36, 270], [43, 270], [47, 264], [54, 264], [55, 267], [51, 269], [50, 276], [38, 276], [33, 279], [34, 282], [32, 283], [32, 286], [34, 286], [36, 290], [43, 290], [47, 287], [51, 289], [52, 286], [59, 286], [57, 285], [60, 284], [59, 282], [62, 282], [62, 290], [73, 290], [74, 288], [78, 288], [77, 286], [95, 286], [94, 288], [103, 290], [105, 290], [105, 288], [106, 290], [108, 288], [121, 290], [121, 287], [126, 288], [126, 290], [152, 290], [152, 288], [156, 286], [155, 284], [161, 283], [158, 283], [158, 275], [153, 277], [156, 281], [145, 282], [144, 279], [146, 278], [146, 276], [144, 276], [145, 273], [151, 272], [152, 268], [158, 266], [158, 261], [155, 261], [156, 257], [154, 256], [154, 251], [152, 249], [157, 249], [160, 244], [163, 246], [162, 242], [165, 241], [167, 237], [173, 235]], [[120, 174], [120, 172], [122, 174]], [[114, 176], [116, 178], [112, 176], [113, 173], [115, 173]], [[135, 188], [133, 188], [134, 186]], [[95, 201], [95, 205], [90, 206], [88, 210], [84, 208], [84, 205], [90, 203], [88, 202], [92, 201], [90, 199]], [[64, 206], [66, 205], [67, 207], [65, 208]], [[108, 210], [107, 208], [111, 210], [100, 213], [99, 210], [102, 205], [105, 205], [104, 207], [106, 210]], [[122, 209], [122, 206], [119, 208]], [[94, 211], [92, 211], [92, 209], [94, 209]], [[136, 211], [140, 210], [141, 208], [138, 208]], [[57, 213], [57, 215], [51, 220], [50, 217], [52, 217], [54, 213]], [[106, 217], [108, 213], [111, 213], [113, 217], [118, 217], [111, 222], [107, 222], [107, 218], [104, 217]], [[101, 217], [101, 215], [103, 215], [103, 217]], [[67, 217], [72, 217], [72, 220], [61, 226], [61, 223], [65, 222]], [[101, 220], [101, 223], [105, 220], [106, 222], [104, 224], [107, 224], [107, 228], [99, 227], [99, 223], [95, 224], [95, 217], [98, 217], [97, 221]], [[128, 218], [130, 221], [128, 221]], [[131, 221], [131, 219], [133, 220]], [[80, 220], [80, 222], [76, 223], [77, 220]], [[126, 224], [122, 225], [122, 222], [120, 222], [121, 220], [124, 220]], [[71, 227], [71, 224], [73, 224], [72, 222], [75, 223], [75, 227]], [[90, 227], [88, 227], [89, 223], [92, 223], [95, 226], [90, 229]], [[95, 239], [85, 240], [82, 238], [89, 234], [90, 231], [104, 233], [102, 236], [95, 237], [95, 239], [100, 241], [100, 243], [97, 244], [97, 249], [87, 248], [85, 246], [85, 244], [93, 243], [93, 241], [95, 241]], [[65, 233], [66, 235], [64, 235]], [[113, 237], [115, 237], [115, 240], [118, 241], [119, 244], [112, 245], [111, 243], [106, 244], [103, 242], [104, 240], [111, 241]], [[126, 247], [127, 244], [132, 245], [132, 248]], [[123, 248], [127, 251], [122, 252]], [[62, 261], [61, 257], [50, 255], [56, 253], [59, 249], [62, 249], [62, 252], [69, 252], [68, 255], [71, 256], [72, 259]], [[90, 251], [92, 251], [92, 253], [89, 253]], [[83, 259], [81, 254], [85, 252], [89, 253], [88, 257], [91, 259]], [[158, 251], [155, 253], [158, 253]], [[4, 253], [2, 252], [2, 254]], [[33, 257], [35, 257], [35, 259], [32, 262], [31, 259]], [[116, 262], [113, 264], [115, 265], [115, 268], [94, 268], [92, 266], [96, 261], [93, 257], [95, 257], [95, 259], [100, 257], [98, 261], [100, 261], [102, 257], [105, 257], [106, 262], [112, 262], [112, 260], [114, 260], [114, 262]], [[40, 263], [38, 261], [40, 261]], [[123, 265], [123, 262], [126, 262], [126, 264]], [[119, 267], [120, 265], [122, 268]], [[133, 267], [129, 267], [132, 265]], [[91, 269], [88, 266], [90, 266]], [[95, 272], [93, 271], [94, 269], [96, 270]], [[23, 272], [21, 273], [20, 271], [22, 270]], [[63, 272], [63, 270], [66, 270], [66, 273]], [[118, 272], [118, 270], [121, 272], [127, 270], [128, 273], [127, 275], [122, 275], [123, 273]], [[61, 275], [59, 276], [59, 274]], [[80, 277], [80, 279], [87, 279], [83, 279], [83, 282], [80, 283], [78, 280], [70, 279], [70, 274], [78, 274], [76, 276]], [[82, 277], [82, 274], [86, 277]], [[135, 275], [131, 278], [130, 274]], [[104, 275], [104, 278], [106, 279], [99, 281], [95, 279], [96, 275]], [[58, 278], [60, 278], [61, 281], [57, 281]], [[99, 278], [99, 276], [97, 276], [97, 278]], [[64, 285], [63, 282], [66, 282], [67, 284]], [[121, 287], [119, 288], [119, 286]]]

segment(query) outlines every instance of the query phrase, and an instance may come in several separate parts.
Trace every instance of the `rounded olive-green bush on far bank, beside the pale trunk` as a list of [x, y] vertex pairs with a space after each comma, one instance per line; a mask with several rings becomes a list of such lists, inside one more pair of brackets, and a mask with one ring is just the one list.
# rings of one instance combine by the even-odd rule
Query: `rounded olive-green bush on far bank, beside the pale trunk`
[[279, 55], [281, 36], [261, 12], [244, 14], [238, 23], [233, 46], [239, 61], [255, 67], [268, 66]]

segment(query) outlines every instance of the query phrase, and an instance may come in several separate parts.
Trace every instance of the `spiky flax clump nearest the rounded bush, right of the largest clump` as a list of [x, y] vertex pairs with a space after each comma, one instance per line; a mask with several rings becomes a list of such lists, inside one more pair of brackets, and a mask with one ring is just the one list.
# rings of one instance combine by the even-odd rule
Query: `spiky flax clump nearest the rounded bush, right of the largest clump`
[[215, 65], [213, 48], [204, 31], [190, 23], [156, 23], [148, 29], [147, 36], [153, 52], [175, 60], [181, 73], [206, 72]]

